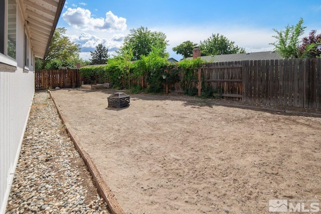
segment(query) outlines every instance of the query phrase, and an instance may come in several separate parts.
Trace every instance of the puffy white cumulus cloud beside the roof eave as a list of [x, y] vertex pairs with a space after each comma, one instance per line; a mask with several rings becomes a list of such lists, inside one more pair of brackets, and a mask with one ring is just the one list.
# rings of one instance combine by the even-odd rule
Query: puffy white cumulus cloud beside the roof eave
[[106, 13], [106, 19], [104, 19], [92, 18], [91, 12], [87, 9], [68, 8], [62, 17], [72, 27], [85, 31], [114, 32], [124, 31], [127, 28], [126, 19], [115, 16], [111, 11]]

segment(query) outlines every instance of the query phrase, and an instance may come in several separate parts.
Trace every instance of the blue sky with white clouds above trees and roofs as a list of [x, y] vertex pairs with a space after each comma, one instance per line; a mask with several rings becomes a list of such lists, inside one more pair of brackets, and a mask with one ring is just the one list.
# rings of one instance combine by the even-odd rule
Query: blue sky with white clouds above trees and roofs
[[140, 26], [163, 32], [170, 57], [180, 60], [173, 47], [187, 40], [199, 44], [217, 33], [247, 52], [272, 51], [273, 29], [296, 25], [300, 18], [303, 36], [311, 30], [321, 34], [321, 2], [312, 0], [66, 0], [57, 27], [65, 27], [71, 41], [80, 44], [84, 60], [100, 43], [115, 54], [129, 30]]

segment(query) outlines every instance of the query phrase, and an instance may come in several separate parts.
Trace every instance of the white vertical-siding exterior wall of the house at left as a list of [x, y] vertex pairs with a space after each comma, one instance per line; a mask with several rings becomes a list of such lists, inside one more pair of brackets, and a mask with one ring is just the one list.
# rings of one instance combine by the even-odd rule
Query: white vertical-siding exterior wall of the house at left
[[35, 61], [29, 45], [25, 69], [25, 26], [17, 8], [16, 60], [0, 53], [0, 213], [5, 213], [35, 91]]

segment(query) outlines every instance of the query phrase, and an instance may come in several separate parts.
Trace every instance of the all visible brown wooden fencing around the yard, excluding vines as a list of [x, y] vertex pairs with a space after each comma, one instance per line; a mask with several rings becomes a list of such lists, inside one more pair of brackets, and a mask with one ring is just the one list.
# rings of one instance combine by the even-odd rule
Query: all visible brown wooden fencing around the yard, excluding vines
[[[227, 99], [321, 109], [321, 58], [207, 63], [186, 72], [178, 70], [179, 82], [166, 85], [165, 81], [166, 91], [183, 93], [194, 88], [201, 95], [210, 87]], [[138, 83], [133, 79], [132, 85], [144, 88], [140, 79]], [[77, 87], [81, 81], [78, 70], [36, 71], [36, 89]]]

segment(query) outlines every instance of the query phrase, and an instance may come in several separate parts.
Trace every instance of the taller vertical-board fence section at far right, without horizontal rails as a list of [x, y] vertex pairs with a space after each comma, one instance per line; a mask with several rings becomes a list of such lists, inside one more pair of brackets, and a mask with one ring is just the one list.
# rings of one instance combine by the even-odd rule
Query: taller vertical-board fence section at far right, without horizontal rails
[[321, 58], [242, 62], [245, 102], [321, 108]]

